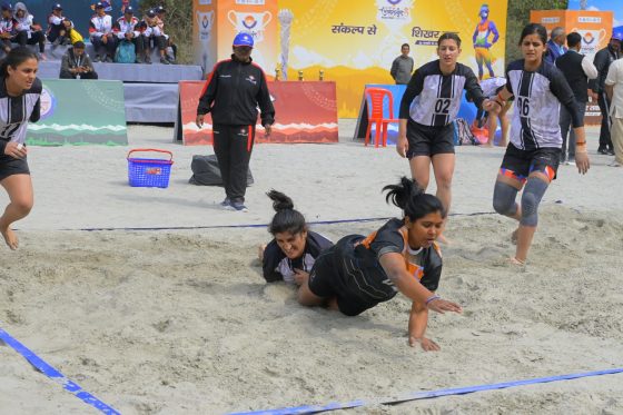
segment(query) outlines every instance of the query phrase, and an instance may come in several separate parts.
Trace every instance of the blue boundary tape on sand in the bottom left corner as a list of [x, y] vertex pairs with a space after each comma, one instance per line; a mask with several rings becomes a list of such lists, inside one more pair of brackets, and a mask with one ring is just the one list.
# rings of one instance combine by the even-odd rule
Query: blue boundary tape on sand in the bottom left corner
[[68, 379], [62, 373], [55, 369], [52, 366], [50, 366], [42, 358], [37, 356], [28, 347], [26, 347], [24, 345], [16, 340], [13, 337], [11, 337], [11, 335], [4, 332], [2, 328], [0, 328], [0, 339], [4, 342], [7, 345], [9, 345], [11, 348], [13, 348], [17, 353], [22, 355], [22, 357], [26, 358], [39, 372], [48, 376], [50, 379], [61, 384], [63, 389], [66, 389], [67, 392], [76, 396], [78, 399], [86, 403], [87, 405], [90, 405], [107, 415], [121, 415], [111, 406], [105, 404], [103, 402], [101, 402], [100, 399], [98, 399], [87, 391], [83, 391], [80, 386], [78, 386], [78, 384]]

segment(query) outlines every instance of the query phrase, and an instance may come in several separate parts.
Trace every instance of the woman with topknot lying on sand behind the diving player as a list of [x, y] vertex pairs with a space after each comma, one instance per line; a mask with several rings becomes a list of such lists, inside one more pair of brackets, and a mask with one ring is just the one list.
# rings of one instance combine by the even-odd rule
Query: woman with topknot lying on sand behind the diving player
[[305, 217], [294, 209], [289, 197], [277, 190], [270, 190], [267, 195], [273, 199], [277, 214], [268, 226], [273, 240], [259, 248], [264, 278], [267, 283], [307, 283], [316, 258], [333, 243], [307, 228]]

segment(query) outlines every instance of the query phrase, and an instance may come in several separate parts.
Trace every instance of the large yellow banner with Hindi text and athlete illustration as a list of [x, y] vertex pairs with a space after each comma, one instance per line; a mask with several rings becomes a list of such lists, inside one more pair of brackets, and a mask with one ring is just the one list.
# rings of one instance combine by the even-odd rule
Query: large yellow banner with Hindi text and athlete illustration
[[339, 117], [356, 118], [365, 85], [394, 83], [403, 43], [417, 68], [437, 59], [443, 32], [457, 32], [462, 63], [484, 78], [503, 75], [506, 9], [507, 0], [279, 0], [277, 69], [288, 80], [324, 71], [337, 83]]

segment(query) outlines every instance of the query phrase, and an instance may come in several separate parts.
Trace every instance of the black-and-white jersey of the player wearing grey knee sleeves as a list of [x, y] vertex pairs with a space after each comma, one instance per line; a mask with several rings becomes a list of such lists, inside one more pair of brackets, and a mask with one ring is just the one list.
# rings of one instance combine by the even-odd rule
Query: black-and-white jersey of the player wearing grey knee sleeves
[[555, 66], [543, 61], [536, 71], [524, 70], [524, 60], [506, 69], [506, 89], [515, 96], [511, 142], [518, 149], [561, 148], [561, 105], [571, 113], [573, 127], [584, 125], [573, 91]]

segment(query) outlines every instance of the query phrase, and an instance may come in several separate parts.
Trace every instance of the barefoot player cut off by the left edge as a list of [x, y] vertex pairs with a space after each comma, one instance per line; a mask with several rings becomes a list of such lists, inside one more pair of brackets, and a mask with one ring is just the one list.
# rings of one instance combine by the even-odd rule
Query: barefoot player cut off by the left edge
[[0, 233], [11, 249], [18, 237], [10, 226], [32, 209], [33, 195], [24, 145], [28, 121], [40, 116], [41, 81], [37, 55], [27, 47], [9, 52], [0, 67], [0, 185], [10, 202], [0, 217]]

